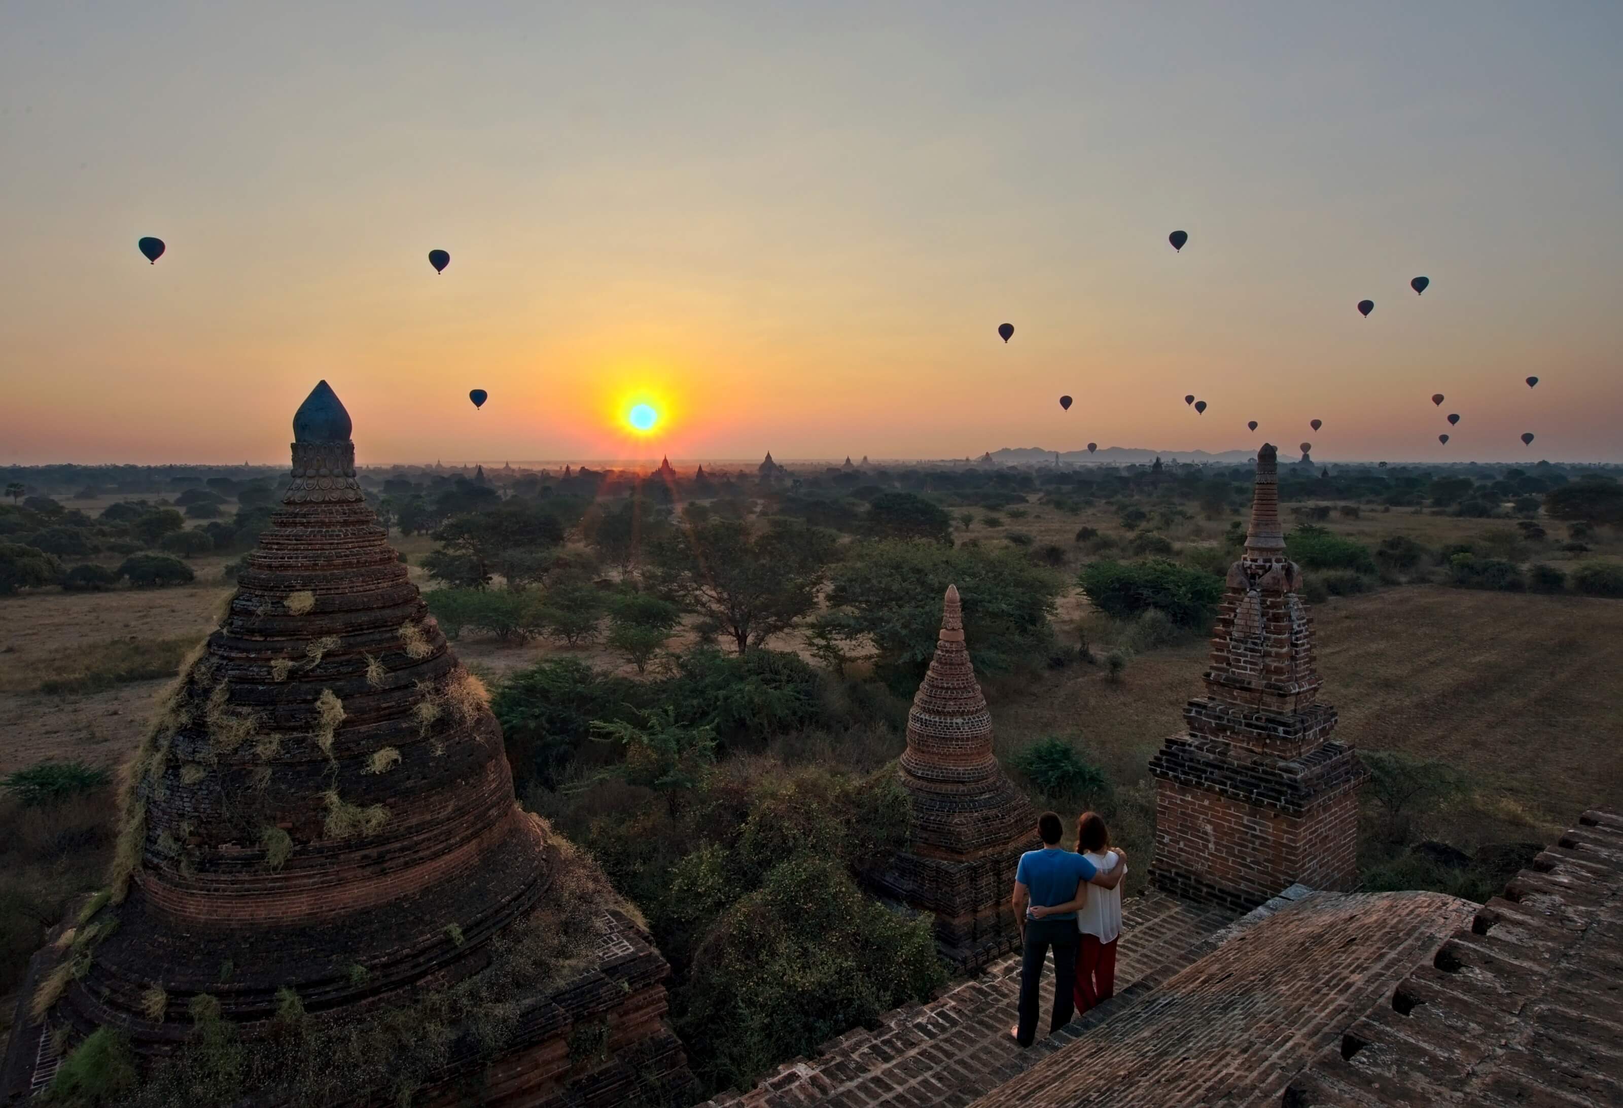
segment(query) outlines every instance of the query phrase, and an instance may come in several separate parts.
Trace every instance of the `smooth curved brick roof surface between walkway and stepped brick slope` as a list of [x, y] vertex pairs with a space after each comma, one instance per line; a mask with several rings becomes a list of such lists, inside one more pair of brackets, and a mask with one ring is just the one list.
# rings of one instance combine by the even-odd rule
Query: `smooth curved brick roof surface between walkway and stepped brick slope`
[[1300, 886], [1281, 900], [1131, 1004], [1073, 1020], [1070, 1046], [975, 1108], [1277, 1105], [1302, 1066], [1475, 907], [1438, 892]]

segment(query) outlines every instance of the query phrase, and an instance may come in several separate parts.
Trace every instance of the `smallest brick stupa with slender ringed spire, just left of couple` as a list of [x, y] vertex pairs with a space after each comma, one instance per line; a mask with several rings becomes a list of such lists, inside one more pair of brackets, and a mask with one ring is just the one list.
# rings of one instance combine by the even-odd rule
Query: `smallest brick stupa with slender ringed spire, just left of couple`
[[911, 801], [909, 845], [867, 874], [883, 895], [935, 913], [936, 949], [959, 968], [1010, 951], [1014, 870], [1037, 842], [1037, 814], [992, 754], [992, 714], [964, 646], [958, 587], [935, 657], [907, 714], [898, 769]]

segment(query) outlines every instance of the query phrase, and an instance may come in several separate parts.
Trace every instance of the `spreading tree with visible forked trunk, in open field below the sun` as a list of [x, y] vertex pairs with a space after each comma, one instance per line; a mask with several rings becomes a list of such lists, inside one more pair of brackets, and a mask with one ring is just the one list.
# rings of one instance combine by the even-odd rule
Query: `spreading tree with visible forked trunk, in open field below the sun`
[[816, 608], [836, 540], [831, 530], [784, 519], [764, 532], [738, 519], [711, 519], [654, 547], [654, 581], [714, 621], [743, 654]]

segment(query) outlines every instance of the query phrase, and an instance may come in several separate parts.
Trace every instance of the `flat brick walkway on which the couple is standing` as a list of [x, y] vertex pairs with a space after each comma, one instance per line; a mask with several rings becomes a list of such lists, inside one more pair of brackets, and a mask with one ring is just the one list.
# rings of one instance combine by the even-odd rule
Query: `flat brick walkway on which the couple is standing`
[[[1235, 913], [1151, 891], [1123, 905], [1117, 965], [1117, 999], [1152, 988], [1206, 949], [1212, 931]], [[1052, 999], [1053, 962], [1044, 981], [1044, 1012]], [[928, 1004], [912, 1004], [886, 1017], [878, 1030], [854, 1030], [824, 1043], [816, 1058], [797, 1059], [761, 1079], [747, 1093], [725, 1093], [708, 1108], [962, 1108], [980, 1093], [1019, 1074], [1070, 1043], [1065, 1033], [1021, 1050], [1008, 1037], [1019, 996], [1019, 959], [1001, 959], [979, 977], [954, 985]], [[1047, 1027], [1047, 1016], [1039, 1020]]]

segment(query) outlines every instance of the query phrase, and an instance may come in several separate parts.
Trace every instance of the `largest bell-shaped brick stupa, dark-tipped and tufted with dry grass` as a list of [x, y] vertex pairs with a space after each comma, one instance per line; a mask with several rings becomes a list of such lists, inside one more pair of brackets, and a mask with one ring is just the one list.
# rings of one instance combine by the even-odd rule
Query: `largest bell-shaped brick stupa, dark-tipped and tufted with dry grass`
[[[687, 1087], [664, 959], [592, 863], [514, 801], [484, 686], [364, 501], [326, 381], [294, 417], [292, 482], [239, 586], [130, 767], [110, 904], [80, 918], [57, 986], [36, 967], [49, 1011], [19, 1033], [114, 1027], [153, 1058], [192, 1035], [200, 1001], [252, 1041], [289, 996], [347, 1024], [550, 928], [583, 936], [566, 975], [536, 975], [527, 996], [506, 981], [510, 1038], [454, 1040], [419, 1103], [469, 1080], [480, 1103], [571, 1108]], [[592, 881], [604, 899], [560, 912]], [[602, 1043], [588, 1058], [583, 1033]]]

